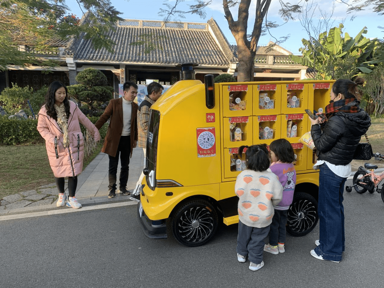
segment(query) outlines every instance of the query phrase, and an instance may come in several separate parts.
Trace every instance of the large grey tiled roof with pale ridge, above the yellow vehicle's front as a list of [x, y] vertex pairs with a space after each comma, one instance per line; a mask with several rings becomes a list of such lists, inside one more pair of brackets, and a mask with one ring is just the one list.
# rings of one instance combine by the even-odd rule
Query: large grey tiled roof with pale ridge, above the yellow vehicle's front
[[[105, 49], [95, 50], [90, 40], [74, 41], [69, 47], [76, 61], [104, 63], [145, 63], [156, 65], [176, 65], [194, 62], [203, 66], [228, 67], [228, 55], [217, 45], [208, 30], [208, 23], [167, 22], [162, 29], [161, 21], [124, 20], [109, 31], [109, 38], [116, 43], [114, 53]], [[155, 48], [144, 53], [144, 45], [130, 45], [142, 40], [139, 35], [158, 35]]]

